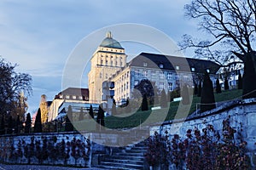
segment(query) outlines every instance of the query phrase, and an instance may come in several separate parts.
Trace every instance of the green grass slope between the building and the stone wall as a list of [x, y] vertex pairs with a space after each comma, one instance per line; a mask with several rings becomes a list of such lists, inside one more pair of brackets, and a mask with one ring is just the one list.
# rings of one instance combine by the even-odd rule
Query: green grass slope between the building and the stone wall
[[[223, 102], [227, 100], [241, 98], [241, 90], [232, 89], [226, 90], [221, 94], [214, 94], [216, 102]], [[163, 108], [156, 111], [137, 111], [134, 114], [121, 114], [118, 116], [108, 116], [105, 118], [105, 127], [108, 128], [130, 128], [137, 127], [142, 123], [150, 124], [154, 122], [163, 122], [164, 120], [179, 119], [188, 116], [196, 111], [196, 104], [201, 102], [201, 98], [193, 96], [191, 107], [189, 105], [182, 105], [179, 101], [171, 102], [169, 108]], [[90, 120], [84, 120], [82, 122], [76, 122], [75, 126], [81, 129], [86, 124], [84, 130], [95, 130], [95, 122]], [[88, 129], [90, 127], [90, 129]]]

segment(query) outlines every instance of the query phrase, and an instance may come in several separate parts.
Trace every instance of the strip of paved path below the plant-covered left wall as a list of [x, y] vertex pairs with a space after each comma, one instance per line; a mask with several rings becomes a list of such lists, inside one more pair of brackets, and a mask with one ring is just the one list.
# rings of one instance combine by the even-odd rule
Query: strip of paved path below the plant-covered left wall
[[0, 170], [102, 170], [100, 168], [75, 168], [75, 167], [55, 167], [38, 165], [5, 165], [0, 164]]

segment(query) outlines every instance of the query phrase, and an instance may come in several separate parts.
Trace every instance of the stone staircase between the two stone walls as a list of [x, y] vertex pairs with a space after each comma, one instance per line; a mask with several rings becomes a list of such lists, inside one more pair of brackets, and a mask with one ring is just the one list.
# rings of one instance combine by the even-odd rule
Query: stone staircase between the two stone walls
[[99, 166], [105, 169], [144, 169], [144, 154], [147, 152], [145, 141], [126, 146], [111, 156], [102, 156]]

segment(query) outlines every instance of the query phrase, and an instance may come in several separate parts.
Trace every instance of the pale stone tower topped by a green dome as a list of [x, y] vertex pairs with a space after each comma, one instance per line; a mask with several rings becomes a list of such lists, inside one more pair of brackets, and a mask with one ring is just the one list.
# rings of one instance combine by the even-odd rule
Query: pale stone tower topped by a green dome
[[102, 82], [108, 80], [126, 65], [125, 48], [107, 32], [90, 59], [89, 94], [91, 103], [102, 103]]

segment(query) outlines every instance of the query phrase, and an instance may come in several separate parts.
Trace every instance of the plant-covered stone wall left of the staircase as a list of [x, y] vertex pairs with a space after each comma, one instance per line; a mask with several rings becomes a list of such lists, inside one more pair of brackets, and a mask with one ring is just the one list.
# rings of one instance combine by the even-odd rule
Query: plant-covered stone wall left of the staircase
[[90, 133], [33, 133], [0, 137], [0, 160], [14, 164], [90, 167]]

